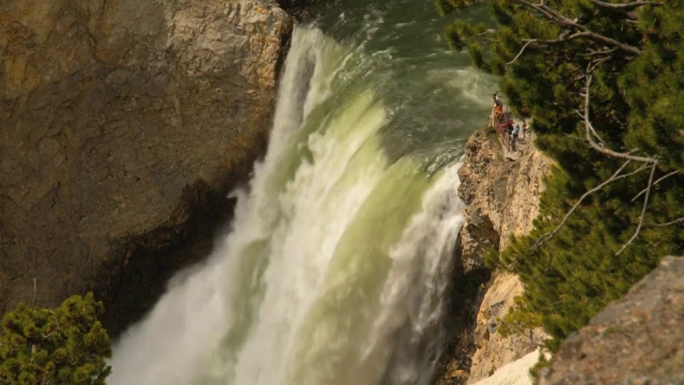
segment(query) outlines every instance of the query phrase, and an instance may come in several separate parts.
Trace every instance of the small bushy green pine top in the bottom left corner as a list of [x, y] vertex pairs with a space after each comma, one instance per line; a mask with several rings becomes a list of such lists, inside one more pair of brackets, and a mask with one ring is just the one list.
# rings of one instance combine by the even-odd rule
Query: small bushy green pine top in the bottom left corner
[[57, 309], [19, 304], [2, 319], [0, 384], [102, 385], [111, 368], [110, 338], [98, 321], [93, 293], [73, 296]]

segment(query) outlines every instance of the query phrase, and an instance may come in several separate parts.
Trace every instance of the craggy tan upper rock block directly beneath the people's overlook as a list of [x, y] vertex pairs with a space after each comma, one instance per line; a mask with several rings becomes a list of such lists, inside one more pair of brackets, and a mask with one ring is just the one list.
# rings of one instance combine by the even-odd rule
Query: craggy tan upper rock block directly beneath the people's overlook
[[466, 159], [458, 174], [458, 189], [466, 204], [467, 226], [461, 231], [462, 257], [467, 265], [482, 265], [489, 247], [504, 250], [510, 235], [532, 230], [539, 214], [539, 197], [551, 159], [534, 147], [532, 138], [518, 145], [518, 160], [503, 157], [496, 136], [480, 131], [466, 145]]

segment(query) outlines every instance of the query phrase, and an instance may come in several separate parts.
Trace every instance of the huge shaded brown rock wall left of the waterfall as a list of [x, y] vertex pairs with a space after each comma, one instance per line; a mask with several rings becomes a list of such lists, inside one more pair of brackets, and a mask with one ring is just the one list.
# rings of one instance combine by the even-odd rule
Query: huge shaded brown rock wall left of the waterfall
[[271, 0], [2, 2], [0, 313], [183, 260], [264, 149], [290, 33]]

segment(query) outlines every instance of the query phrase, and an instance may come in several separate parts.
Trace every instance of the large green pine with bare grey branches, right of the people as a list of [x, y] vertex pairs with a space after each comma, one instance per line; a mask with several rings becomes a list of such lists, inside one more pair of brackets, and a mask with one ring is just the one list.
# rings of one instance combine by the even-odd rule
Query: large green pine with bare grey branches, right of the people
[[[553, 351], [661, 257], [684, 252], [684, 0], [489, 0], [482, 6], [499, 28], [455, 21], [447, 29], [450, 44], [467, 48], [475, 66], [502, 77], [509, 107], [532, 118], [536, 145], [557, 164], [546, 178], [534, 230], [494, 261], [525, 284], [503, 330], [541, 324]], [[449, 9], [455, 19], [458, 9]], [[591, 148], [586, 106], [592, 138], [603, 148], [657, 162], [625, 165], [623, 177], [588, 195], [563, 222], [585, 193], [625, 163]]]

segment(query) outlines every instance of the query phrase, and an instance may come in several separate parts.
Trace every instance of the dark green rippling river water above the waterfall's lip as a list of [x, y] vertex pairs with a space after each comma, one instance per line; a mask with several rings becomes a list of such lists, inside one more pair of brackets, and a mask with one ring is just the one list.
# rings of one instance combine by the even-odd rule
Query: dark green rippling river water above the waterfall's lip
[[431, 0], [333, 1], [318, 7], [315, 22], [326, 36], [352, 47], [366, 61], [356, 81], [372, 81], [388, 109], [383, 130], [390, 159], [440, 150], [442, 162], [462, 153], [482, 128], [497, 78], [476, 71], [465, 52], [448, 48], [444, 29], [453, 19], [492, 22], [487, 7], [440, 17]]

